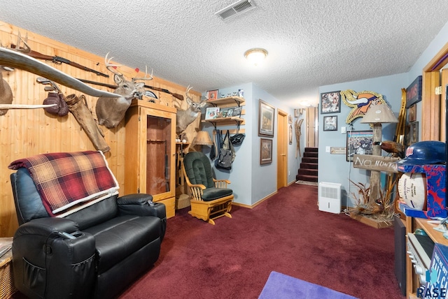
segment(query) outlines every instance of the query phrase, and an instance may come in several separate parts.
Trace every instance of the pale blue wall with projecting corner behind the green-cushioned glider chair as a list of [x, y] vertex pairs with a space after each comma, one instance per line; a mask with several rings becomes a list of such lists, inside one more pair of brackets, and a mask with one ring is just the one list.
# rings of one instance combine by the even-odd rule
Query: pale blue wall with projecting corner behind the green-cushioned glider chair
[[[232, 164], [232, 170], [223, 171], [214, 168], [214, 173], [217, 179], [228, 179], [232, 182], [229, 187], [233, 189], [235, 193], [236, 203], [251, 206], [266, 196], [276, 192], [277, 112], [278, 109], [280, 109], [290, 115], [294, 115], [294, 110], [252, 83], [219, 89], [219, 94], [236, 92], [238, 89], [244, 89], [244, 99], [246, 100], [244, 106], [246, 114], [241, 116], [245, 120], [245, 125], [241, 126], [241, 129], [246, 130], [246, 138], [241, 145], [235, 147], [237, 156]], [[262, 99], [276, 108], [274, 138], [272, 143], [272, 163], [264, 165], [260, 165], [260, 136], [258, 136], [259, 99]], [[203, 124], [202, 126], [202, 129], [209, 131], [210, 136], [212, 136], [211, 134], [214, 127], [209, 124]], [[235, 129], [235, 126], [218, 126], [218, 129]], [[288, 183], [295, 182], [295, 175], [297, 174], [297, 169], [299, 167], [300, 161], [295, 159], [296, 144], [295, 137], [293, 136], [293, 144], [288, 144], [288, 171], [290, 173], [288, 175]], [[303, 145], [304, 141], [301, 140], [300, 144]], [[209, 154], [209, 148], [204, 147], [203, 151], [207, 155]]]

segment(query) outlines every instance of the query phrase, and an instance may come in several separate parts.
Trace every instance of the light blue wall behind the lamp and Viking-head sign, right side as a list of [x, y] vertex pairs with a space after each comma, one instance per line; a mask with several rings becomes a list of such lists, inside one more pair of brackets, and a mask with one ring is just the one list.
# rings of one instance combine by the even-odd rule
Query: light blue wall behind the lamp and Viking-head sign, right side
[[[401, 101], [401, 89], [408, 87], [417, 76], [422, 74], [423, 68], [429, 63], [431, 59], [442, 49], [442, 47], [448, 42], [448, 22], [440, 30], [439, 34], [428, 45], [428, 48], [421, 54], [415, 64], [409, 68], [408, 73], [402, 73], [398, 75], [391, 75], [381, 78], [372, 78], [368, 80], [359, 80], [353, 82], [344, 82], [335, 85], [326, 85], [319, 87], [319, 92], [332, 92], [337, 90], [353, 89], [355, 92], [361, 92], [368, 90], [377, 92], [384, 96], [386, 102], [391, 106], [395, 115], [398, 115], [400, 111]], [[338, 119], [338, 131], [323, 131], [323, 127], [319, 126], [319, 168], [318, 168], [318, 181], [319, 182], [336, 182], [342, 184], [343, 207], [348, 203], [349, 206], [353, 206], [354, 199], [351, 196], [351, 192], [356, 192], [358, 189], [353, 187], [349, 183], [349, 180], [353, 182], [361, 182], [363, 184], [370, 181], [370, 171], [362, 170], [359, 168], [353, 168], [351, 162], [346, 161], [345, 155], [336, 155], [325, 152], [325, 147], [346, 147], [346, 135], [340, 133], [341, 126], [346, 126], [349, 129], [349, 125], [345, 124], [345, 118], [349, 113], [349, 107], [341, 104], [341, 112], [335, 113]], [[421, 128], [421, 102], [417, 104], [417, 121], [420, 123]], [[323, 123], [323, 116], [330, 114], [319, 115], [319, 124]], [[368, 124], [360, 124], [360, 118], [353, 121], [355, 131], [369, 130]], [[421, 130], [421, 129], [420, 129]], [[395, 124], [386, 124], [383, 126], [383, 140], [390, 140], [395, 133]], [[421, 138], [421, 131], [419, 132], [419, 138]], [[421, 139], [419, 139], [421, 140]], [[384, 152], [383, 152], [384, 154]]]

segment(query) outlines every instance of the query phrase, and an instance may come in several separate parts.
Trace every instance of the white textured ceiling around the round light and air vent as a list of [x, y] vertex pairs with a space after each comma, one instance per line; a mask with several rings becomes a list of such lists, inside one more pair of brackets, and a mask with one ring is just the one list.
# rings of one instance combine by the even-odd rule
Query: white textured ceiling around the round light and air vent
[[[446, 0], [0, 0], [0, 20], [199, 92], [247, 82], [291, 108], [318, 87], [404, 73], [448, 21]], [[269, 55], [259, 66], [249, 48]]]

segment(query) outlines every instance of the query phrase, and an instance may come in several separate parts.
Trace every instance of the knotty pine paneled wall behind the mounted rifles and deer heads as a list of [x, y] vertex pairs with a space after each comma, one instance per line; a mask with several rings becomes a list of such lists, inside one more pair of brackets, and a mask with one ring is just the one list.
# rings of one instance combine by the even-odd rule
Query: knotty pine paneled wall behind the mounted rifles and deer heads
[[[22, 37], [28, 34], [28, 44], [34, 51], [51, 56], [57, 55], [64, 57], [102, 73], [109, 72], [104, 66], [104, 57], [98, 57], [69, 45], [53, 41], [50, 38], [39, 36], [31, 31], [27, 31], [27, 29], [20, 29], [0, 21], [0, 41], [3, 47], [10, 47], [11, 43], [16, 44], [19, 31]], [[109, 51], [113, 53], [113, 48], [104, 49], [104, 54]], [[113, 75], [110, 73], [110, 77], [105, 78], [67, 64], [57, 65], [51, 62], [48, 62], [48, 64], [75, 78], [115, 85]], [[134, 66], [134, 68], [136, 67], [140, 69], [144, 68], [144, 66]], [[127, 78], [137, 77], [134, 68], [120, 66], [119, 71]], [[143, 73], [138, 73], [139, 77], [142, 75]], [[157, 75], [156, 69], [154, 70], [154, 75]], [[38, 75], [18, 69], [12, 72], [3, 72], [3, 79], [13, 89], [13, 103], [41, 104], [43, 102], [48, 95], [43, 90], [43, 85], [36, 82], [37, 77]], [[170, 92], [176, 94], [184, 94], [186, 90], [184, 86], [157, 77], [146, 82], [146, 84], [153, 87], [169, 89]], [[76, 94], [80, 96], [80, 92], [76, 90], [68, 89], [62, 85], [59, 85], [59, 87], [66, 95]], [[113, 90], [107, 89], [106, 87], [97, 87], [94, 85], [92, 87], [113, 92]], [[162, 92], [153, 92], [160, 99], [161, 105], [173, 106], [172, 101], [176, 99], [171, 95]], [[191, 91], [190, 95], [194, 101], [200, 101], [200, 92]], [[94, 107], [97, 98], [86, 95], [86, 99], [87, 105], [96, 119]], [[181, 102], [181, 109], [186, 108], [186, 101]], [[197, 119], [195, 123], [188, 127], [186, 133], [190, 140], [193, 140], [195, 131], [199, 126], [200, 119]], [[123, 195], [126, 162], [125, 123], [124, 121], [121, 122], [114, 129], [107, 129], [104, 126], [101, 126], [101, 128], [104, 132], [106, 143], [111, 147], [111, 151], [105, 154], [106, 159], [120, 183], [120, 194]], [[8, 169], [9, 163], [15, 159], [25, 158], [35, 154], [47, 152], [78, 152], [83, 150], [94, 150], [94, 146], [71, 113], [64, 117], [56, 117], [45, 112], [43, 109], [15, 109], [9, 110], [6, 115], [0, 116], [0, 237], [12, 236], [18, 227], [13, 194], [10, 187], [10, 173], [13, 170]]]

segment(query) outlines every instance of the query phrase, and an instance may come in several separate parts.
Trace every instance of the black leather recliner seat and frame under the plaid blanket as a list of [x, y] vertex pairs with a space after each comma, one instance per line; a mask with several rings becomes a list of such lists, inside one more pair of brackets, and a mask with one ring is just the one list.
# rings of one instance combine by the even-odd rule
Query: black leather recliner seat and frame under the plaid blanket
[[158, 260], [167, 219], [165, 205], [149, 205], [151, 195], [111, 196], [49, 217], [29, 171], [19, 168], [10, 177], [20, 224], [14, 285], [25, 296], [114, 298]]

